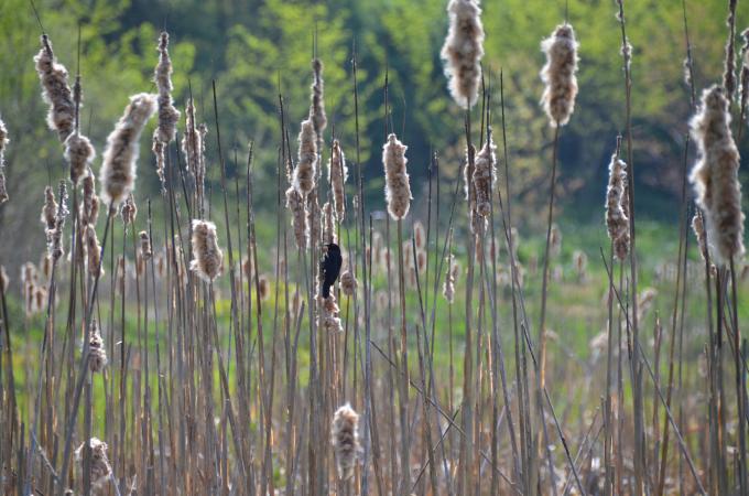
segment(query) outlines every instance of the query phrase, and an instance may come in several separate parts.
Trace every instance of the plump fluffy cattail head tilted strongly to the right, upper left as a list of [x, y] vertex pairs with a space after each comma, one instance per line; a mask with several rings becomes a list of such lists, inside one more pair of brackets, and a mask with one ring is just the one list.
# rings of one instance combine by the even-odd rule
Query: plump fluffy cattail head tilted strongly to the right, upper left
[[99, 173], [102, 196], [107, 203], [119, 205], [132, 192], [140, 149], [138, 142], [155, 109], [153, 95], [141, 93], [131, 96], [124, 114], [107, 138]]

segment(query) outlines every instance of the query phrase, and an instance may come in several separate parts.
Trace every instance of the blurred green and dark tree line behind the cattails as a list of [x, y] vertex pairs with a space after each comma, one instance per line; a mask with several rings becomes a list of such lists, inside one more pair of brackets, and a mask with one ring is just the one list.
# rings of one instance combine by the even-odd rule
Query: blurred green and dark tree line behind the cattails
[[[533, 226], [547, 196], [552, 144], [552, 130], [538, 104], [543, 65], [540, 42], [563, 22], [565, 2], [482, 3], [485, 82], [491, 95], [491, 120], [498, 130], [501, 73], [513, 200], [522, 202], [518, 213]], [[356, 51], [360, 157], [369, 207], [381, 208], [384, 202], [380, 150], [384, 140], [386, 71], [389, 121], [409, 144], [414, 196], [425, 193], [433, 151], [439, 157], [441, 176], [451, 180], [446, 184], [453, 184], [459, 171], [465, 149], [464, 116], [449, 99], [439, 60], [447, 31], [446, 0], [35, 0], [35, 4], [72, 79], [78, 67], [80, 25], [82, 122], [99, 157], [128, 96], [154, 89], [156, 37], [166, 29], [172, 40], [176, 105], [184, 109], [192, 90], [198, 118], [208, 123], [213, 187], [218, 192], [220, 176], [213, 79], [229, 180], [243, 177], [247, 144], [253, 141], [256, 182], [275, 185], [281, 139], [279, 90], [295, 153], [298, 122], [308, 108], [316, 32], [317, 52], [325, 64], [328, 145], [335, 132], [349, 166], [356, 161], [351, 71]], [[703, 87], [720, 79], [727, 4], [726, 0], [686, 0], [697, 96]], [[675, 218], [672, 205], [681, 187], [684, 137], [692, 114], [683, 76], [686, 50], [682, 0], [627, 2], [626, 9], [628, 35], [634, 47], [632, 117], [638, 209], [642, 209], [639, 216], [670, 220]], [[616, 136], [625, 125], [621, 32], [615, 11], [612, 0], [569, 1], [568, 19], [580, 42], [579, 96], [572, 122], [562, 131], [561, 188], [566, 215], [582, 222], [599, 223], [603, 218], [606, 168]], [[737, 32], [748, 24], [749, 10], [739, 9]], [[11, 139], [6, 155], [11, 202], [0, 207], [0, 254], [14, 261], [40, 252], [44, 236], [36, 217], [43, 185], [67, 175], [62, 148], [44, 122], [46, 109], [32, 60], [40, 48], [40, 33], [29, 0], [2, 0], [0, 116]], [[474, 112], [475, 120], [478, 114]], [[749, 151], [746, 134], [741, 143], [745, 155]], [[139, 200], [159, 197], [148, 136], [144, 133], [139, 165]], [[501, 133], [496, 137], [501, 151]], [[329, 155], [328, 150], [325, 155]], [[95, 172], [99, 164], [97, 160]], [[256, 187], [258, 203], [275, 202], [274, 190]], [[11, 250], [19, 246], [23, 254]]]

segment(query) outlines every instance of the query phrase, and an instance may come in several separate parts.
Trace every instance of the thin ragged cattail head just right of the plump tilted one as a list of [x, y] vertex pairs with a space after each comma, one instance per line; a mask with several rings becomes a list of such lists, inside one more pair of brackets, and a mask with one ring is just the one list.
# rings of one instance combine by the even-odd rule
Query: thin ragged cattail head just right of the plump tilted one
[[154, 72], [154, 82], [159, 88], [159, 126], [153, 132], [153, 153], [156, 155], [156, 174], [161, 180], [162, 188], [166, 187], [164, 176], [164, 152], [169, 143], [174, 140], [180, 120], [180, 110], [174, 108], [172, 100], [172, 60], [169, 56], [169, 33], [162, 32], [159, 36], [159, 64]]

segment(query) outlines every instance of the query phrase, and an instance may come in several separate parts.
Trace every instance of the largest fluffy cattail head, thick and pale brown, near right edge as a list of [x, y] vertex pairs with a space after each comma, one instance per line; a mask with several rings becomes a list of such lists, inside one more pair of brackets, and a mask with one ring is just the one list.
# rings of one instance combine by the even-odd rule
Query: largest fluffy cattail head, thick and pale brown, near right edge
[[714, 85], [703, 91], [701, 109], [690, 126], [699, 150], [690, 181], [705, 215], [710, 255], [721, 265], [743, 255], [739, 152], [721, 87]]

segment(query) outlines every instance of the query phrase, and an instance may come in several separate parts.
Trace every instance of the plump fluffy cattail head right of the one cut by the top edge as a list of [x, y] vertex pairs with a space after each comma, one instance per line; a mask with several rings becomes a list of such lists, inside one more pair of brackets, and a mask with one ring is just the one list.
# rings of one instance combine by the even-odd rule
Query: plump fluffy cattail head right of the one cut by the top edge
[[577, 41], [571, 24], [557, 25], [543, 42], [546, 65], [541, 69], [544, 84], [541, 104], [553, 127], [569, 122], [577, 96]]

